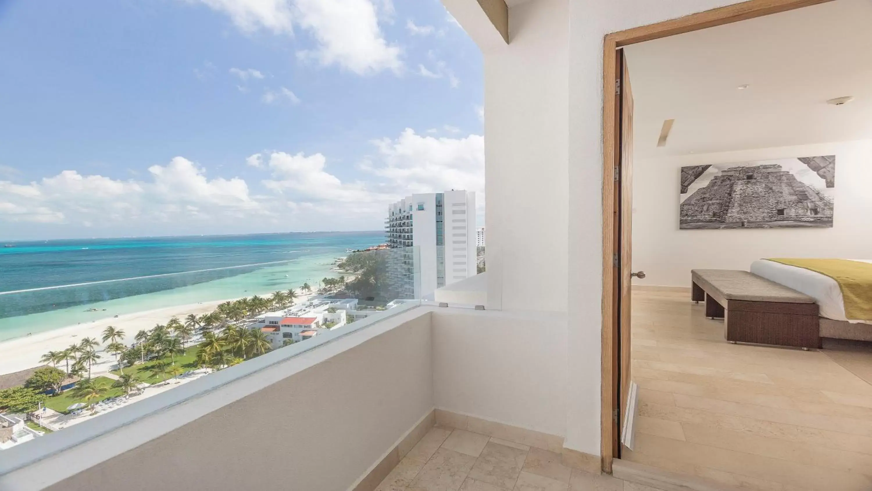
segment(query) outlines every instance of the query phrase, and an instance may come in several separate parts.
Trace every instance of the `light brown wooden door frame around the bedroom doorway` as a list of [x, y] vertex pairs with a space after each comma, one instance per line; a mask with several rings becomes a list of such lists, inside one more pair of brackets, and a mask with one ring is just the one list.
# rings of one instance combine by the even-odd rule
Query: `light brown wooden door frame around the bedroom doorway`
[[617, 119], [617, 57], [615, 51], [622, 46], [667, 38], [685, 32], [699, 31], [709, 27], [731, 24], [742, 20], [763, 17], [787, 10], [800, 9], [832, 0], [750, 0], [734, 3], [726, 7], [705, 10], [677, 19], [657, 24], [644, 25], [626, 31], [607, 34], [603, 42], [603, 351], [602, 395], [601, 395], [601, 441], [603, 472], [610, 473], [615, 459], [614, 442], [616, 433], [613, 414], [617, 409], [617, 365], [620, 363], [617, 352], [617, 303], [615, 302], [617, 278], [614, 275], [612, 255], [616, 245], [618, 224], [615, 220], [617, 203], [615, 200], [615, 167], [620, 145], [617, 132], [620, 131]]

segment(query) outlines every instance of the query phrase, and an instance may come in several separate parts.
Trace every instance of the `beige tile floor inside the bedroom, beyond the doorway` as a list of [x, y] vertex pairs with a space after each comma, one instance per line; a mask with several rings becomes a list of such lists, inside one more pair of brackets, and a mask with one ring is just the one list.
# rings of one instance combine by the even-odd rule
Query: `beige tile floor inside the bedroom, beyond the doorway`
[[729, 344], [685, 293], [632, 302], [640, 404], [624, 459], [753, 490], [872, 489], [872, 385], [855, 375], [872, 370], [872, 344], [842, 366], [827, 354], [838, 345]]

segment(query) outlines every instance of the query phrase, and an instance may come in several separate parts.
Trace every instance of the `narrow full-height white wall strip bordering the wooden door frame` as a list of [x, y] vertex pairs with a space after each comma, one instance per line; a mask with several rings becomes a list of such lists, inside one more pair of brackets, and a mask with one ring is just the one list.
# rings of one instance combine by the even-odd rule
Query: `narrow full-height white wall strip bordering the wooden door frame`
[[[535, 0], [538, 1], [538, 0]], [[603, 249], [603, 38], [731, 0], [569, 0], [569, 189], [566, 446], [600, 453]], [[535, 4], [535, 2], [534, 2]], [[490, 110], [485, 106], [485, 112]], [[520, 130], [520, 128], [519, 128]], [[487, 138], [487, 135], [486, 135]], [[520, 134], [518, 135], [520, 138]], [[490, 142], [485, 140], [485, 144]], [[488, 195], [490, 190], [487, 190]], [[556, 290], [555, 290], [556, 291]]]

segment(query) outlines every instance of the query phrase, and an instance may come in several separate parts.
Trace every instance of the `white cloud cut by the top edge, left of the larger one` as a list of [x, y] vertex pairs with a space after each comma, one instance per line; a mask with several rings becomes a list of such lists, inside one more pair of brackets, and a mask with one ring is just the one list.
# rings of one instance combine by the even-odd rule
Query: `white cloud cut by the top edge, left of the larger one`
[[262, 28], [276, 34], [293, 32], [293, 16], [287, 0], [199, 0], [199, 2], [227, 14], [233, 23], [245, 32]]

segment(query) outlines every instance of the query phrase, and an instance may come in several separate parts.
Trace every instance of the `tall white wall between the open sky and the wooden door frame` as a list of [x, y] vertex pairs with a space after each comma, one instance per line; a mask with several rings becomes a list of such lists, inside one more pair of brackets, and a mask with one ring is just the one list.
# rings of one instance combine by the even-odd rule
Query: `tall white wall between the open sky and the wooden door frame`
[[[444, 2], [478, 41], [487, 25]], [[531, 0], [509, 9], [511, 44], [480, 42], [488, 308], [576, 312], [567, 447], [600, 452], [603, 37], [729, 3]]]

